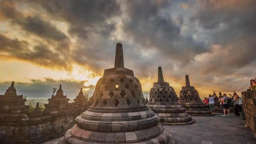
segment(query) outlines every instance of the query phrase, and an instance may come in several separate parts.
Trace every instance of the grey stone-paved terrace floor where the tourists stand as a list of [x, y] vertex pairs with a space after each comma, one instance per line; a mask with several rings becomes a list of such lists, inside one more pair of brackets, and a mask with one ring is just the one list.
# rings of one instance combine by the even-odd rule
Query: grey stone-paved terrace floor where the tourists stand
[[256, 139], [245, 127], [245, 120], [231, 114], [222, 117], [193, 117], [196, 123], [181, 126], [163, 126], [176, 144], [256, 144]]

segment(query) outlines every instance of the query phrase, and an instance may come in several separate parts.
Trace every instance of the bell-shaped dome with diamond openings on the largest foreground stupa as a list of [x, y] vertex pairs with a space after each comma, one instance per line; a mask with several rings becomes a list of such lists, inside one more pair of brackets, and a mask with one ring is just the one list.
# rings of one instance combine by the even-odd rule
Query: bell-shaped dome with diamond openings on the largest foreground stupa
[[129, 75], [106, 76], [99, 79], [93, 94], [93, 107], [132, 107], [144, 105], [141, 84]]

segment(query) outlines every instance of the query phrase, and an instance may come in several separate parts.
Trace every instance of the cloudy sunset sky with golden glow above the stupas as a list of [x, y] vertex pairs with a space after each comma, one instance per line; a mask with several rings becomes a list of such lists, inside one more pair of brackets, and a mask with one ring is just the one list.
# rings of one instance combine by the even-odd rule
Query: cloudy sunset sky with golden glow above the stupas
[[255, 0], [0, 0], [0, 94], [47, 99], [62, 84], [93, 94], [114, 67], [117, 43], [144, 97], [164, 80], [179, 95], [185, 75], [201, 98], [241, 96], [256, 78]]

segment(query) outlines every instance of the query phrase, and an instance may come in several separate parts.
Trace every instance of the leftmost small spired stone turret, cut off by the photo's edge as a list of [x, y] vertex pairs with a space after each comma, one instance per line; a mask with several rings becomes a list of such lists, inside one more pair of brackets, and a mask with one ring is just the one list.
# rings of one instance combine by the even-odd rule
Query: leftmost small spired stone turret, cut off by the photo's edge
[[28, 118], [29, 106], [25, 105], [25, 102], [23, 95], [17, 95], [12, 81], [5, 94], [0, 95], [0, 122], [14, 122]]

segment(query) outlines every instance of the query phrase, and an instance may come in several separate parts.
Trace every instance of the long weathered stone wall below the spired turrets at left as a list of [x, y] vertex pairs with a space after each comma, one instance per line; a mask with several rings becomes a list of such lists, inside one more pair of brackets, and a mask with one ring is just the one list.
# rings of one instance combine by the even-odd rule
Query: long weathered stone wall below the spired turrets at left
[[75, 118], [80, 114], [72, 113], [61, 117], [42, 116], [25, 118], [15, 123], [1, 123], [0, 142], [40, 144], [61, 137], [75, 124]]

